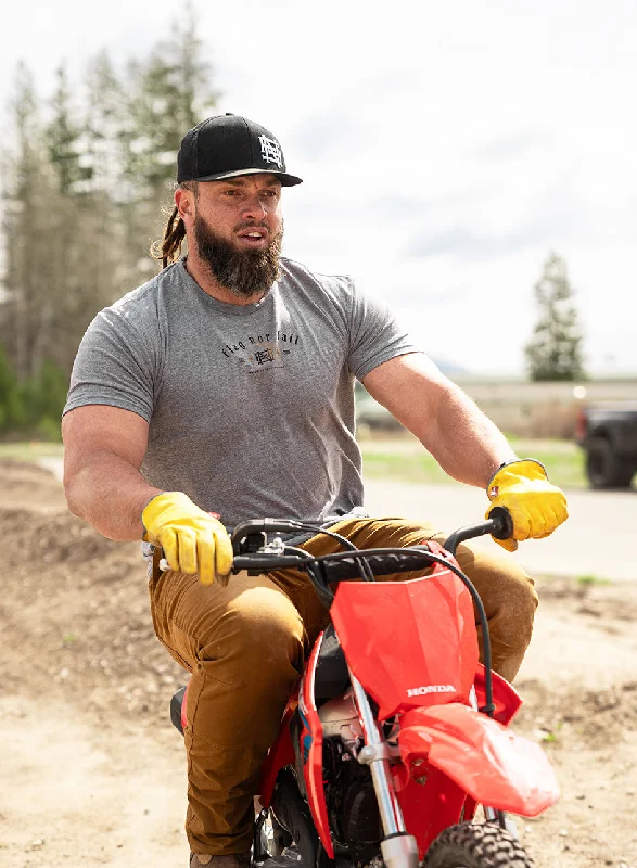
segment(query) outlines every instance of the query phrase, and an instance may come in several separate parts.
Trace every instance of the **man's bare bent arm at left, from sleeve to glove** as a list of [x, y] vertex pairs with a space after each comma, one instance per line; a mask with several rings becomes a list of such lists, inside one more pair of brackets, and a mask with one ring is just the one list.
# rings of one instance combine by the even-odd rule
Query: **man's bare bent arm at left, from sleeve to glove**
[[160, 494], [139, 472], [148, 422], [117, 407], [90, 405], [62, 420], [68, 509], [111, 539], [141, 539], [141, 513]]

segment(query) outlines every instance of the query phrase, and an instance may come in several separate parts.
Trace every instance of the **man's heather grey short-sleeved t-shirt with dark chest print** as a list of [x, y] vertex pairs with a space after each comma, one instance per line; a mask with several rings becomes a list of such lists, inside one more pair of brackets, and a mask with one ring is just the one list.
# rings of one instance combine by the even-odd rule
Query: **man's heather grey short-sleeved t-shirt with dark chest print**
[[64, 412], [102, 404], [141, 416], [145, 478], [228, 526], [323, 523], [362, 506], [354, 379], [416, 350], [347, 277], [281, 259], [267, 295], [241, 306], [207, 295], [181, 260], [98, 314]]

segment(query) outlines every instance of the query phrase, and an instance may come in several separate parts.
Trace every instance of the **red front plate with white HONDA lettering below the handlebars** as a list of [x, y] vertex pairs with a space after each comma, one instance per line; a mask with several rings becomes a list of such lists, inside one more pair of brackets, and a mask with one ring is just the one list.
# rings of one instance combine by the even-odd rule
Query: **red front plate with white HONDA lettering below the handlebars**
[[477, 666], [471, 595], [444, 567], [411, 582], [342, 582], [330, 610], [347, 663], [379, 719], [468, 702]]

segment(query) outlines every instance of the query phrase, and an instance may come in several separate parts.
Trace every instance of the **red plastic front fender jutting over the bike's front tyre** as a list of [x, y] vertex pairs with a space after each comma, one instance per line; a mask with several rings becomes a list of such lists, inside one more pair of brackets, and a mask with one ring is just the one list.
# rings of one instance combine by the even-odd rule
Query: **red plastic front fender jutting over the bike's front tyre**
[[425, 760], [476, 802], [498, 810], [535, 817], [560, 797], [538, 744], [458, 702], [406, 712], [398, 745], [408, 769]]

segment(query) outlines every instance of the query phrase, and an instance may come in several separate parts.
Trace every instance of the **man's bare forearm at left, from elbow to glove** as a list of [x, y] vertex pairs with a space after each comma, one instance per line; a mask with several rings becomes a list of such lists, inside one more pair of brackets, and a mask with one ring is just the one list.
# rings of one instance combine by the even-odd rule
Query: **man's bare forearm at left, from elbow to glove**
[[65, 465], [64, 488], [68, 509], [110, 539], [141, 539], [141, 513], [160, 494], [124, 458], [100, 449], [79, 469]]

